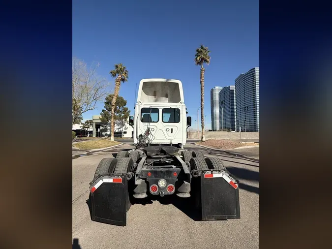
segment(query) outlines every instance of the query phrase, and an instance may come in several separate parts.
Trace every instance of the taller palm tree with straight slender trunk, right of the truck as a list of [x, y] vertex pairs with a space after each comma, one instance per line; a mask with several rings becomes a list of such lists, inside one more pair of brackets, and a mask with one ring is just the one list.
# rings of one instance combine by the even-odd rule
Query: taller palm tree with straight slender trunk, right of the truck
[[201, 45], [201, 47], [196, 49], [195, 54], [195, 64], [201, 66], [201, 124], [202, 124], [202, 141], [205, 141], [204, 134], [204, 71], [205, 68], [203, 64], [210, 64], [211, 57], [209, 55], [211, 51], [209, 51], [208, 47]]

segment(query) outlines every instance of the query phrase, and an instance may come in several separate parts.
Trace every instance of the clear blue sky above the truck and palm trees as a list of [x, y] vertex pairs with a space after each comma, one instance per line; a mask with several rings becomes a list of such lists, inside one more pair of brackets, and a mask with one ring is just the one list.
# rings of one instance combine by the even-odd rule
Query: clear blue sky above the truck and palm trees
[[[144, 78], [179, 79], [193, 125], [200, 107], [200, 67], [195, 50], [211, 51], [205, 70], [206, 125], [211, 128], [210, 90], [259, 66], [259, 1], [73, 0], [73, 57], [100, 62], [98, 74], [114, 85], [109, 71], [123, 63], [129, 80], [120, 95], [134, 114], [135, 86]], [[103, 103], [86, 112], [99, 115]], [[196, 123], [197, 124], [197, 123]]]

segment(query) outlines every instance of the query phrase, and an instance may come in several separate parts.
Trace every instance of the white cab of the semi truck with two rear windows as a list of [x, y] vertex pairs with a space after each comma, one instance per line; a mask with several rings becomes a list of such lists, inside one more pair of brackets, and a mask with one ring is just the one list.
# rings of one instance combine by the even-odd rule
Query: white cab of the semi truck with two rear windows
[[129, 117], [134, 128], [134, 144], [140, 134], [150, 128], [150, 144], [179, 145], [186, 143], [186, 129], [191, 117], [186, 117], [180, 80], [143, 79], [140, 81], [135, 116]]

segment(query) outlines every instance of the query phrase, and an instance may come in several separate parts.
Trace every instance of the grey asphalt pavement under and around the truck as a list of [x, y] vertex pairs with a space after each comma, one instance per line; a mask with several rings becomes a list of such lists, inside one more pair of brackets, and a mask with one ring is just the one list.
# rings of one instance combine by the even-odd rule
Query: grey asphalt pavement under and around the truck
[[124, 227], [91, 221], [87, 204], [89, 183], [98, 163], [102, 158], [131, 148], [128, 142], [73, 159], [72, 236], [78, 239], [81, 249], [259, 248], [259, 147], [221, 152], [190, 143], [185, 146], [189, 150], [201, 150], [206, 156], [221, 158], [240, 180], [241, 219], [200, 221], [185, 199], [171, 201], [159, 197], [132, 205]]

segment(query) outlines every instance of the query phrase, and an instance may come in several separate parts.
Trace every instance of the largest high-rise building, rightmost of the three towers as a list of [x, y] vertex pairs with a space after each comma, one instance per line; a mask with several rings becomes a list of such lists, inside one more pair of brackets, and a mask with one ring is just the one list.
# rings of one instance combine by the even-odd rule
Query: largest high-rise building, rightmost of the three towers
[[235, 80], [237, 130], [259, 131], [259, 67]]

